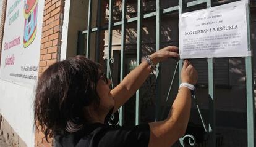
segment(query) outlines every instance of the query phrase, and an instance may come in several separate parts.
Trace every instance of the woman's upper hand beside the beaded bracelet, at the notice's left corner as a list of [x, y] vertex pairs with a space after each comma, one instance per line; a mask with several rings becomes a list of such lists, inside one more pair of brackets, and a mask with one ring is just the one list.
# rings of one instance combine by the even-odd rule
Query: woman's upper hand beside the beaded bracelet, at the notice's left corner
[[159, 62], [163, 62], [167, 58], [179, 58], [179, 49], [176, 46], [164, 47], [161, 50], [150, 55], [152, 62], [156, 65]]

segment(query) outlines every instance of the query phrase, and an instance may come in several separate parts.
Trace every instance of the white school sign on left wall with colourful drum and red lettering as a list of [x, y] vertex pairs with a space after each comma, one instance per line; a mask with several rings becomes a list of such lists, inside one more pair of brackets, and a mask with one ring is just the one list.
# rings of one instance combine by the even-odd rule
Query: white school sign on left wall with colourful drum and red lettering
[[7, 1], [1, 79], [35, 84], [38, 78], [44, 1]]

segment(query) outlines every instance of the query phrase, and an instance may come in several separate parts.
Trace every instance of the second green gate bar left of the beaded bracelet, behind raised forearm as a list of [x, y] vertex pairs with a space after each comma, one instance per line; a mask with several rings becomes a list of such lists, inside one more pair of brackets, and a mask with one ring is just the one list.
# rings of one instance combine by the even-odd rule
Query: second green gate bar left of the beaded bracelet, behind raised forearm
[[[124, 50], [126, 49], [126, 22], [127, 22], [127, 18], [126, 18], [126, 0], [122, 0], [122, 28], [121, 28], [121, 32], [122, 32], [122, 36], [121, 36], [121, 61], [120, 61], [120, 82], [122, 81], [122, 79], [124, 78]], [[123, 115], [122, 115], [123, 111], [122, 111], [122, 106], [121, 108], [119, 108], [119, 125], [123, 125]]]

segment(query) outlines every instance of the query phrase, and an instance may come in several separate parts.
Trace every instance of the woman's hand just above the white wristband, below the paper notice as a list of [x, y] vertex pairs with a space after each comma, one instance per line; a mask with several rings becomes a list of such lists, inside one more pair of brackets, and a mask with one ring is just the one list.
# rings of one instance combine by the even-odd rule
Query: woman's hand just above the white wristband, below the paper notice
[[197, 70], [189, 63], [188, 60], [184, 60], [183, 68], [181, 70], [181, 82], [187, 82], [189, 84], [197, 84]]

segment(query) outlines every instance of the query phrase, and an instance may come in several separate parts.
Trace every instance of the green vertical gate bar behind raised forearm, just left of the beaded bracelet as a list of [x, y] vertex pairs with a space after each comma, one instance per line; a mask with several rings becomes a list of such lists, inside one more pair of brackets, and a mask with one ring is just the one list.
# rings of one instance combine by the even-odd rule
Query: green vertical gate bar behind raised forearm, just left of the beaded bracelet
[[[141, 47], [142, 47], [142, 39], [141, 39], [141, 29], [142, 29], [142, 1], [138, 0], [138, 10], [137, 10], [137, 58], [136, 58], [136, 64], [137, 66], [140, 65], [141, 61]], [[139, 104], [139, 93], [140, 89], [137, 90], [136, 92], [136, 110], [135, 110], [135, 125], [138, 125], [140, 123], [140, 104]]]

